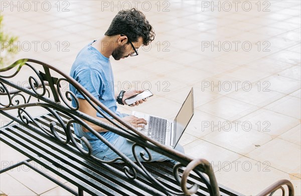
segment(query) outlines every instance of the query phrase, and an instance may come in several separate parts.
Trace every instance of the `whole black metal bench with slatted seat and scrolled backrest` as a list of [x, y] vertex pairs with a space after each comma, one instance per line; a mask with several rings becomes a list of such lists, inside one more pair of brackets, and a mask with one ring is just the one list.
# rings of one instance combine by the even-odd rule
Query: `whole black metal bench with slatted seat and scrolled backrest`
[[[25, 87], [13, 81], [23, 66], [33, 71], [33, 74], [28, 76], [29, 85]], [[17, 70], [12, 71], [14, 68]], [[10, 71], [12, 72], [9, 73]], [[0, 72], [0, 114], [11, 118], [13, 122], [0, 129], [0, 140], [29, 157], [16, 165], [4, 168], [0, 173], [26, 164], [75, 195], [83, 195], [83, 191], [92, 195], [242, 195], [217, 184], [211, 164], [207, 160], [193, 159], [140, 134], [110, 112], [73, 78], [55, 67], [34, 59], [20, 59], [7, 68], [0, 69]], [[80, 112], [78, 106], [72, 107], [70, 101], [76, 97], [69, 91], [69, 83], [75, 86], [91, 105], [96, 104], [103, 108], [120, 124], [115, 123], [116, 127], [107, 126], [100, 120]], [[94, 108], [101, 113], [97, 106], [94, 105]], [[44, 109], [47, 112], [32, 117], [28, 111], [30, 108]], [[140, 156], [145, 162], [138, 159], [136, 162], [129, 160], [90, 128], [83, 119], [134, 141], [132, 151], [135, 151], [136, 146], [141, 146], [144, 151], [140, 152]], [[89, 151], [85, 151], [80, 139], [74, 134], [73, 123], [79, 123], [97, 135], [120, 155], [124, 163], [94, 157], [91, 155], [92, 149], [88, 140], [82, 137], [81, 140], [89, 147]], [[178, 163], [152, 162], [147, 149], [167, 155]], [[32, 160], [75, 184], [78, 190], [33, 167], [30, 164]], [[280, 180], [259, 194], [267, 195], [277, 189], [284, 192], [284, 184], [288, 187], [289, 195], [293, 195], [293, 186], [288, 180]]]

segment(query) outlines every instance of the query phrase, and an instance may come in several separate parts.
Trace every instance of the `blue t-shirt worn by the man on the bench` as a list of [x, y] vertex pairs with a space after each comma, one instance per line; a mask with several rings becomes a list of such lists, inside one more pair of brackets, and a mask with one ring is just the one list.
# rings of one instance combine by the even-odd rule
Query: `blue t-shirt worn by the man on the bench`
[[[96, 40], [94, 40], [96, 41]], [[122, 115], [117, 111], [116, 99], [114, 96], [114, 77], [111, 68], [110, 59], [102, 55], [95, 47], [91, 45], [94, 41], [86, 45], [77, 54], [75, 61], [71, 67], [70, 76], [78, 81], [86, 88], [94, 97], [108, 107], [112, 112], [119, 117]], [[70, 84], [70, 90], [78, 97], [84, 98], [73, 85]], [[72, 105], [75, 106], [75, 100], [72, 100]], [[100, 107], [99, 109], [103, 111]], [[105, 115], [109, 116], [105, 111]], [[99, 112], [97, 116], [103, 117]], [[111, 116], [109, 116], [112, 118]], [[84, 132], [81, 126], [74, 125], [74, 132], [80, 138], [85, 136], [89, 139], [93, 153], [102, 151], [107, 148], [100, 139], [91, 132]], [[109, 142], [113, 142], [118, 134], [112, 131], [99, 132]], [[84, 149], [87, 147], [82, 142]]]

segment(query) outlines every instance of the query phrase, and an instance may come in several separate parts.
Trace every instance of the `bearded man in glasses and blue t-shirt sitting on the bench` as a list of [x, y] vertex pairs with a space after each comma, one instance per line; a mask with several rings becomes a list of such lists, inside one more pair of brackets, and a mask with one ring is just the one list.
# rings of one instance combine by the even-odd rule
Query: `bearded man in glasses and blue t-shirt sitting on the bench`
[[[112, 55], [115, 60], [126, 58], [128, 56], [138, 55], [137, 49], [143, 44], [147, 45], [154, 40], [155, 33], [152, 25], [145, 19], [142, 12], [132, 8], [130, 10], [121, 10], [113, 18], [108, 30], [99, 40], [94, 40], [86, 45], [77, 55], [70, 75], [85, 87], [93, 96], [95, 96], [106, 107], [113, 111], [122, 120], [129, 122], [134, 127], [142, 127], [146, 124], [143, 118], [137, 118], [133, 115], [120, 113], [117, 111], [116, 100], [119, 104], [124, 104], [124, 99], [142, 90], [129, 90], [114, 93], [113, 73], [109, 57]], [[110, 85], [108, 85], [110, 84]], [[108, 87], [111, 86], [111, 87]], [[104, 122], [108, 122], [99, 112], [97, 112], [84, 97], [70, 85], [70, 90], [76, 94], [79, 99], [79, 110]], [[137, 106], [143, 103], [138, 100], [133, 103]], [[75, 101], [72, 102], [75, 105]], [[101, 109], [101, 108], [100, 108]], [[102, 110], [103, 111], [103, 110]], [[103, 111], [104, 112], [104, 111]], [[107, 114], [106, 112], [104, 112]], [[132, 154], [132, 142], [128, 141], [118, 134], [107, 131], [100, 126], [89, 123], [93, 129], [99, 132], [105, 139], [121, 150], [130, 159], [135, 160]], [[109, 123], [109, 122], [108, 122]], [[85, 136], [92, 145], [92, 154], [103, 160], [113, 160], [118, 155], [112, 151], [105, 143], [98, 139], [86, 128], [79, 124], [74, 124], [75, 134], [78, 137]], [[83, 148], [87, 146], [82, 142]], [[177, 146], [179, 151], [184, 151], [182, 146]], [[137, 149], [139, 160], [143, 161]], [[150, 150], [153, 161], [169, 160], [168, 157], [158, 152]], [[120, 161], [119, 161], [120, 162]]]

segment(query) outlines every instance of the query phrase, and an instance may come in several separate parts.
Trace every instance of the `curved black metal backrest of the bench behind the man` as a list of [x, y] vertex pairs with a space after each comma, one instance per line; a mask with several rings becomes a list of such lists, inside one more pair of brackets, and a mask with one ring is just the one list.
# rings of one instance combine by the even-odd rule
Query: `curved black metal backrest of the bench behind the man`
[[[25, 69], [25, 70], [23, 70]], [[26, 72], [26, 77], [28, 77], [27, 85], [24, 86], [24, 81], [18, 81], [19, 78], [24, 77]], [[29, 73], [30, 72], [30, 73]], [[111, 112], [105, 105], [98, 101], [90, 92], [83, 88], [75, 79], [57, 69], [56, 67], [49, 65], [47, 63], [41, 62], [35, 59], [20, 59], [14, 62], [12, 65], [0, 69], [0, 113], [8, 116], [14, 121], [28, 126], [29, 124], [34, 124], [38, 129], [43, 131], [47, 137], [61, 145], [72, 145], [77, 148], [77, 153], [84, 156], [86, 159], [94, 159], [102, 163], [113, 163], [116, 160], [104, 161], [96, 158], [91, 154], [92, 148], [89, 144], [87, 138], [82, 137], [80, 140], [88, 146], [88, 151], [84, 150], [81, 145], [76, 141], [74, 134], [71, 132], [71, 127], [73, 123], [78, 123], [92, 132], [96, 137], [102, 140], [106, 145], [108, 145], [113, 151], [115, 151], [127, 164], [127, 169], [130, 169], [133, 175], [129, 176], [132, 179], [136, 177], [136, 173], [141, 173], [144, 175], [151, 183], [153, 183], [159, 189], [163, 189], [167, 194], [193, 194], [197, 191], [198, 187], [196, 185], [190, 186], [187, 184], [187, 177], [191, 171], [197, 173], [203, 182], [207, 185], [208, 191], [211, 195], [219, 195], [219, 187], [217, 185], [213, 169], [211, 164], [205, 159], [193, 159], [192, 157], [180, 153], [174, 149], [171, 149], [152, 138], [149, 138], [139, 131], [137, 131], [130, 124], [122, 121], [122, 119], [115, 113]], [[79, 102], [78, 98], [73, 92], [69, 90], [69, 85], [73, 85], [85, 99], [106, 119], [111, 121], [115, 126], [108, 126], [101, 120], [93, 118], [78, 110]], [[72, 99], [76, 102], [75, 106], [72, 106]], [[65, 131], [65, 137], [61, 137], [55, 129], [55, 122], [51, 123], [49, 127], [44, 127], [32, 116], [30, 110], [37, 111], [40, 109], [45, 109], [52, 113], [60, 126]], [[102, 108], [106, 113], [103, 113], [99, 108]], [[15, 113], [14, 113], [15, 112]], [[65, 123], [58, 112], [64, 113], [70, 120]], [[118, 121], [115, 123], [111, 118]], [[101, 134], [98, 134], [93, 128], [91, 128], [84, 120], [87, 120], [93, 124], [101, 126], [109, 131], [113, 131], [123, 137], [126, 137], [133, 143], [133, 153], [135, 153], [136, 146], [140, 146], [144, 149], [144, 153], [140, 153], [141, 157], [147, 159], [145, 155], [147, 154], [150, 161], [151, 154], [149, 150], [155, 150], [163, 155], [166, 155], [179, 163], [174, 166], [174, 177], [178, 181], [179, 185], [182, 187], [182, 192], [174, 192], [173, 190], [161, 184], [156, 178], [152, 177], [148, 173], [147, 169], [143, 167], [141, 162], [137, 159], [136, 163], [130, 160], [126, 155], [119, 151], [119, 149], [114, 148], [110, 142], [108, 142]], [[137, 166], [138, 165], [138, 166]], [[183, 168], [183, 175], [180, 176], [178, 173], [179, 168]], [[124, 170], [125, 174], [130, 175]], [[208, 177], [204, 175], [207, 174]], [[189, 186], [189, 187], [188, 187]]]

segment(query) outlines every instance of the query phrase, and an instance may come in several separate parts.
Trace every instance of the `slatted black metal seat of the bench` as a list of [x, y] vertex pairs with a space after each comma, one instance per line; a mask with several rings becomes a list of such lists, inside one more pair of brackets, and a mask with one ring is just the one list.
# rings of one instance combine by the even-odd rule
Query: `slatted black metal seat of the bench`
[[[64, 123], [66, 123], [70, 119], [69, 116], [66, 116], [61, 112], [58, 112], [58, 114], [61, 116]], [[47, 127], [49, 127], [50, 122], [55, 121], [55, 130], [57, 131], [58, 135], [64, 139], [66, 138], [66, 134], [61, 124], [53, 114], [48, 113], [41, 115], [36, 117], [35, 120], [37, 120], [38, 123], [41, 123], [46, 129], [48, 129]], [[12, 135], [15, 135], [15, 137], [19, 137], [20, 140], [18, 140], [18, 142], [22, 146], [25, 145], [27, 148], [30, 145], [34, 145], [31, 146], [31, 149], [36, 149], [33, 150], [35, 155], [42, 156], [57, 167], [66, 167], [65, 169], [70, 172], [69, 174], [72, 175], [66, 176], [65, 173], [57, 174], [60, 176], [62, 175], [62, 177], [67, 179], [68, 181], [72, 181], [72, 183], [74, 183], [75, 185], [83, 187], [85, 191], [92, 195], [165, 195], [165, 193], [161, 192], [159, 189], [154, 188], [154, 185], [140, 173], [137, 173], [137, 178], [135, 180], [128, 180], [123, 172], [123, 166], [125, 166], [124, 163], [105, 164], [85, 157], [81, 153], [78, 154], [79, 152], [72, 142], [70, 142], [68, 145], [57, 143], [54, 138], [50, 138], [41, 130], [35, 129], [35, 124], [32, 124], [28, 127], [35, 131], [25, 128], [23, 125], [22, 127], [18, 125], [10, 127], [11, 131], [8, 132], [10, 132], [10, 134]], [[71, 126], [71, 131], [76, 141], [80, 144], [80, 140], [74, 134], [73, 126]], [[43, 155], [41, 152], [39, 152], [39, 150], [44, 151], [44, 154], [46, 155]], [[49, 158], [50, 156], [55, 157], [54, 160], [61, 161], [66, 165], [62, 166], [61, 164]], [[152, 175], [166, 187], [174, 191], [181, 191], [181, 187], [177, 184], [173, 176], [172, 162], [143, 162], [142, 164], [148, 170], [148, 172], [152, 173]], [[183, 170], [179, 169], [179, 172], [180, 175], [182, 175]], [[118, 177], [116, 177], [116, 175]], [[209, 195], [209, 193], [207, 192], [207, 186], [202, 182], [201, 178], [198, 175], [191, 173], [187, 179], [187, 182], [189, 184], [199, 184], [198, 191], [193, 195]], [[87, 186], [88, 188], [85, 186]], [[99, 190], [99, 192], [93, 192], [93, 187]], [[230, 191], [223, 189], [221, 186], [220, 190], [222, 196], [241, 195], [233, 194], [234, 191], [231, 193]], [[228, 192], [230, 192], [231, 194], [228, 194]]]

